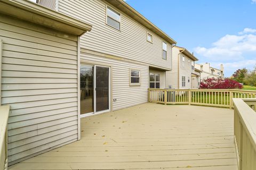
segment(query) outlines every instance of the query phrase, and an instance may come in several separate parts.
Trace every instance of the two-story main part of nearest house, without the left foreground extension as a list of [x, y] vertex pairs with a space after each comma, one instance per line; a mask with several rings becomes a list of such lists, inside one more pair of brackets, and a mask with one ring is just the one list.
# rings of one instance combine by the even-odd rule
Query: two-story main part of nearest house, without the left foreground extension
[[147, 103], [149, 87], [166, 87], [176, 42], [123, 0], [38, 3], [93, 25], [80, 41], [81, 117]]

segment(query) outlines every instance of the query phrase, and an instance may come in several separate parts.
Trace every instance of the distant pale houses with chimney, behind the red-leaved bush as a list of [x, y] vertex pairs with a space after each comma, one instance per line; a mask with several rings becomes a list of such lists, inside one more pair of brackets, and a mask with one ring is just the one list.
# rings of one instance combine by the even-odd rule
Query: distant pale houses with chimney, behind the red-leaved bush
[[201, 80], [207, 79], [207, 78], [217, 78], [217, 79], [223, 79], [224, 78], [224, 67], [223, 64], [220, 65], [220, 69], [215, 69], [210, 66], [210, 63], [204, 63], [204, 64], [195, 64], [195, 68], [197, 70], [202, 71], [201, 73]]

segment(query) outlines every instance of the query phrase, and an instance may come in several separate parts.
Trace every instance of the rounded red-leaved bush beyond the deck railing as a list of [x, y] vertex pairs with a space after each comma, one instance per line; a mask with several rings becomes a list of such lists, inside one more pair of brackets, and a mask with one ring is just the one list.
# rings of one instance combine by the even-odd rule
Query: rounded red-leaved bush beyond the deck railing
[[232, 79], [208, 78], [200, 83], [200, 89], [242, 89], [241, 83]]

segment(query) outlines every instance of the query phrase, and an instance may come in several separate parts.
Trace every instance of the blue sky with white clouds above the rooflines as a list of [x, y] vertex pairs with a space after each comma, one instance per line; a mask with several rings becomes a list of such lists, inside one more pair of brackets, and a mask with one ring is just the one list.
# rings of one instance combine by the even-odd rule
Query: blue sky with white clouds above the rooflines
[[185, 47], [197, 63], [225, 67], [225, 77], [256, 66], [256, 0], [126, 0]]

